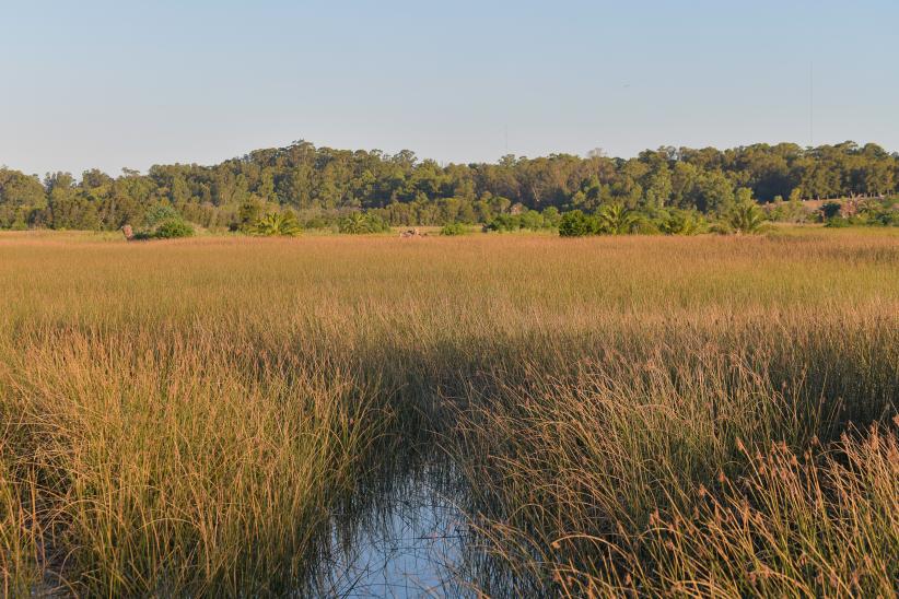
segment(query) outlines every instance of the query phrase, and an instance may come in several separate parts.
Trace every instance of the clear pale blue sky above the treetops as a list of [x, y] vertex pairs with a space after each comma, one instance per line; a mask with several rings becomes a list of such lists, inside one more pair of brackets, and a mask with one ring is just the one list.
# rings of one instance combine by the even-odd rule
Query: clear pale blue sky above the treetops
[[0, 164], [807, 144], [812, 63], [815, 143], [894, 151], [897, 24], [896, 0], [0, 0]]

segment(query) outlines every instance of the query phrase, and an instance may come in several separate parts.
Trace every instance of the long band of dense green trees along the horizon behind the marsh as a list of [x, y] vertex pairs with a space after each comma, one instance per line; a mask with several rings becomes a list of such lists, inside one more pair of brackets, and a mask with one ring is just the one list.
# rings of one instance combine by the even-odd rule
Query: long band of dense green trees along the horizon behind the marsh
[[[113, 177], [98, 169], [39, 178], [0, 168], [0, 227], [117, 230], [173, 210], [206, 228], [245, 230], [289, 212], [302, 226], [347, 223], [354, 212], [387, 225], [491, 223], [503, 215], [627, 210], [732, 211], [760, 203], [880, 197], [895, 192], [899, 154], [848, 141], [802, 148], [659, 148], [633, 158], [507, 155], [497, 163], [440, 165], [410, 151], [348, 151], [299, 141], [213, 166], [154, 165]], [[536, 218], [536, 216], [535, 216]], [[357, 223], [358, 224], [358, 223]]]

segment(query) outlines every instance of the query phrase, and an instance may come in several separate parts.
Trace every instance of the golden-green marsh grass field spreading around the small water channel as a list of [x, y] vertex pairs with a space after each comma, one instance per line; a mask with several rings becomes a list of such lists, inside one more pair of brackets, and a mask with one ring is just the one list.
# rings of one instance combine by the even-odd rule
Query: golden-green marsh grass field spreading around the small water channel
[[0, 235], [0, 592], [303, 592], [421, 448], [490, 595], [890, 596], [899, 236]]

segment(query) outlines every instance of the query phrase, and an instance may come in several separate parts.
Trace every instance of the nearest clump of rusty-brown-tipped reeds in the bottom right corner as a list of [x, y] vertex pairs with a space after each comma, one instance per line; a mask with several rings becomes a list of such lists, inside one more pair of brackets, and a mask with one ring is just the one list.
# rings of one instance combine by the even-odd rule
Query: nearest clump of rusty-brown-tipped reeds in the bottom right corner
[[747, 455], [746, 475], [700, 486], [692, 509], [653, 514], [642, 533], [572, 535], [596, 562], [556, 562], [564, 595], [889, 597], [899, 571], [895, 431], [877, 426], [828, 451], [783, 445]]

